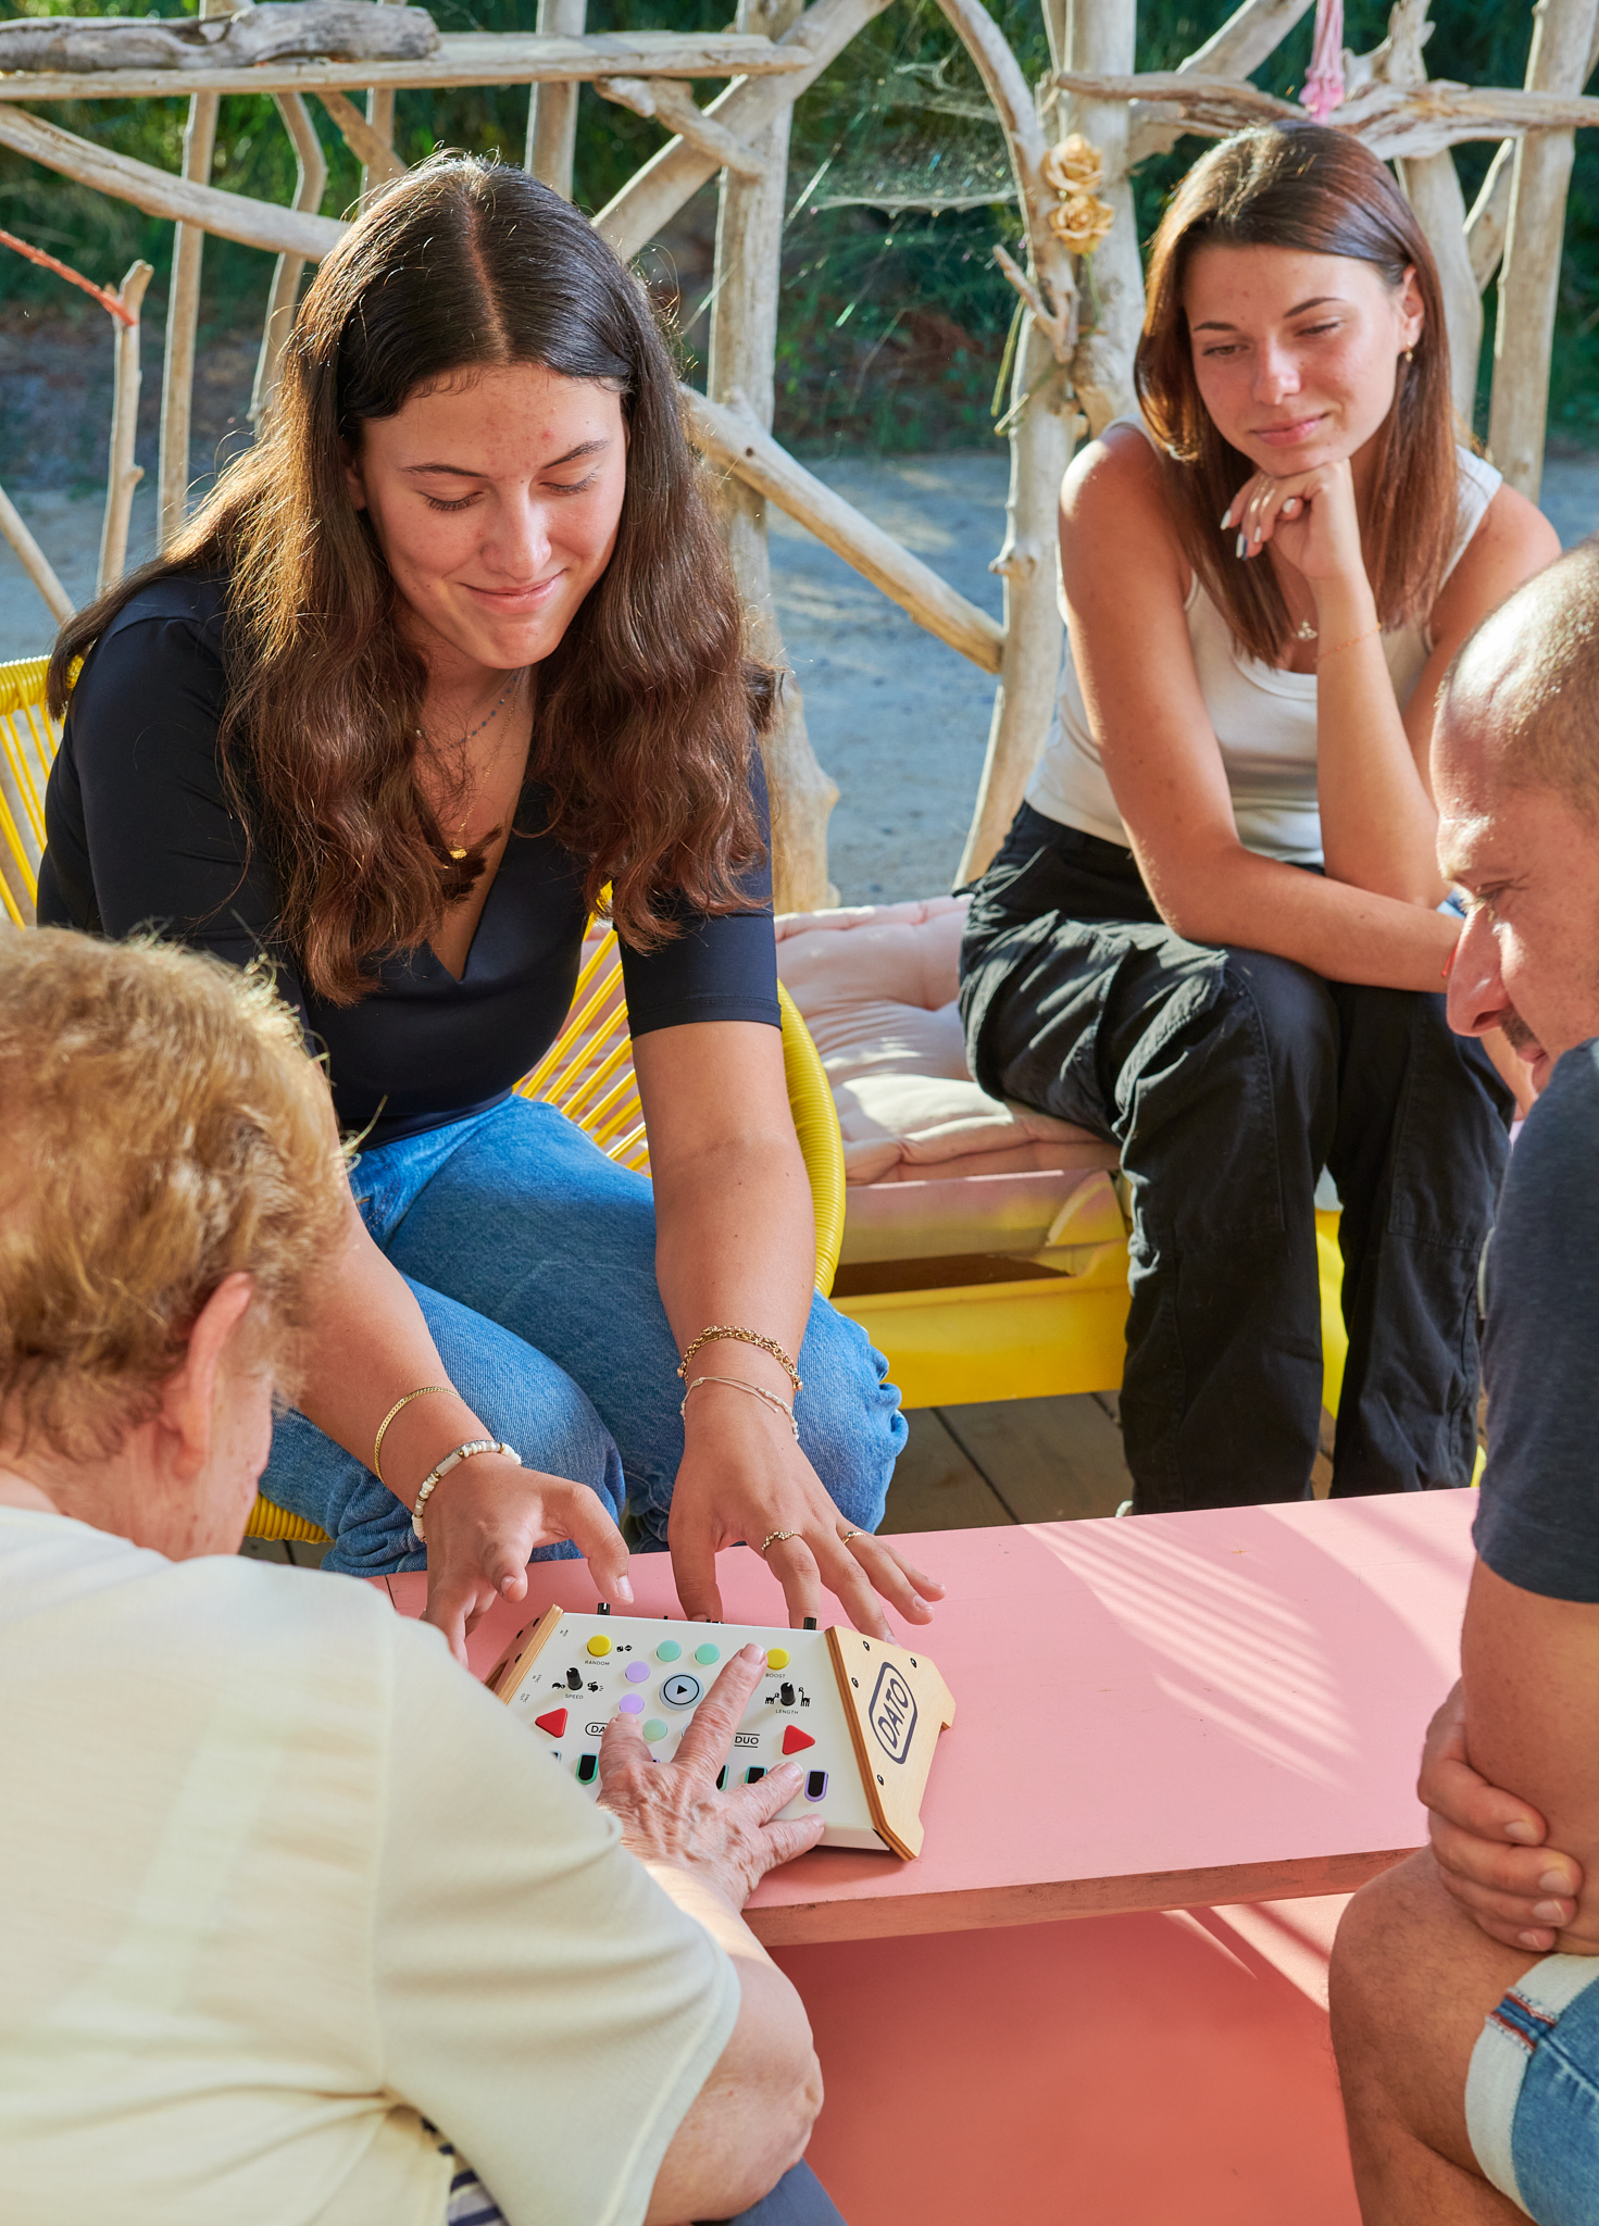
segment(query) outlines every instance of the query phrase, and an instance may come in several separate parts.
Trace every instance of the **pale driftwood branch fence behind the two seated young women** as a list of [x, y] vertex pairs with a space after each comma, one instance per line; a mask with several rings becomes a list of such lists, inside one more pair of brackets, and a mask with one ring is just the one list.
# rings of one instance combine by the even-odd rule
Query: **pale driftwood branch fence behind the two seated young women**
[[[969, 877], [1004, 835], [1053, 706], [1060, 476], [1073, 443], [1134, 403], [1142, 269], [1129, 174], [1183, 134], [1214, 138], [1269, 118], [1303, 118], [1301, 107], [1247, 80], [1312, 0], [1243, 0], [1178, 69], [1160, 73], [1134, 69], [1136, 0], [1040, 0], [1051, 67], [1036, 87], [1024, 80], [984, 0], [940, 0], [1004, 136], [1024, 232], [1018, 258], [1000, 252], [1018, 307], [1009, 405], [1000, 421], [1009, 434], [1011, 487], [1004, 548], [993, 561], [1004, 581], [998, 623], [773, 439], [788, 118], [795, 100], [891, 4], [739, 0], [737, 27], [706, 36], [588, 36], [586, 0], [539, 0], [537, 33], [439, 36], [425, 9], [379, 0], [267, 0], [225, 20], [29, 18], [0, 24], [0, 145], [178, 227], [163, 390], [163, 521], [169, 530], [180, 516], [187, 476], [203, 236], [232, 238], [278, 258], [256, 365], [252, 416], [258, 418], [276, 383], [303, 267], [343, 234], [339, 220], [321, 214], [327, 165], [312, 98], [323, 102], [361, 160], [363, 194], [403, 167], [394, 154], [394, 96], [405, 87], [526, 85], [528, 167], [568, 198], [583, 82], [655, 118], [670, 140], [595, 225], [621, 256], [635, 256], [702, 185], [722, 178], [708, 392], [686, 394], [684, 407], [708, 465], [722, 474], [719, 501], [753, 648], [786, 668], [766, 550], [766, 514], [777, 505], [918, 626], [998, 677], [978, 808], [960, 864], [960, 875]], [[1599, 100], [1583, 98], [1599, 62], [1599, 0], [1537, 0], [1523, 87], [1479, 89], [1428, 78], [1428, 0], [1396, 0], [1383, 45], [1370, 56], [1345, 58], [1345, 100], [1330, 122], [1394, 162], [1432, 240], [1463, 412], [1477, 385], [1481, 294], [1501, 274], [1490, 445], [1510, 481], [1537, 494], [1572, 134], [1599, 122]], [[728, 82], [702, 107], [690, 80], [706, 78]], [[27, 107], [178, 91], [192, 98], [183, 176], [111, 154]], [[209, 185], [207, 129], [214, 136], [216, 98], [234, 91], [276, 100], [296, 151], [290, 207]], [[354, 102], [361, 91], [365, 114]], [[1450, 147], [1465, 140], [1499, 142], [1470, 214], [1450, 158]], [[127, 501], [138, 476], [131, 427], [140, 272], [147, 276], [136, 267], [118, 296], [131, 318], [118, 325], [118, 432], [102, 581], [122, 565]], [[0, 530], [58, 610], [60, 583], [2, 496]], [[800, 690], [788, 686], [784, 697], [784, 717], [768, 741], [779, 904], [826, 904], [826, 815], [835, 788], [811, 750]]]

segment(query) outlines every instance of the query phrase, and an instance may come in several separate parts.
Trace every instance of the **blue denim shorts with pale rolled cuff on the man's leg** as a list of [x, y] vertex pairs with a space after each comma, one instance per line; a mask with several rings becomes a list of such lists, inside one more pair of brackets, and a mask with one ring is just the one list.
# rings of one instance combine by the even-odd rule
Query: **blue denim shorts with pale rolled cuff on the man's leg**
[[1550, 1954], [1490, 2012], [1465, 2075], [1485, 2177], [1539, 2226], [1599, 2217], [1599, 1970]]

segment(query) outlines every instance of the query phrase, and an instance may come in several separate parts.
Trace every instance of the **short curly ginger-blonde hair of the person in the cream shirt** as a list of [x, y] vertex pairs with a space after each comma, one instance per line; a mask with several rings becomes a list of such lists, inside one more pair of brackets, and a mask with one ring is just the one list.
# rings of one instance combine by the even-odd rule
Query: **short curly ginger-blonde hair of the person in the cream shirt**
[[272, 977], [156, 942], [0, 933], [0, 1440], [111, 1454], [220, 1280], [281, 1389], [347, 1213], [327, 1077]]

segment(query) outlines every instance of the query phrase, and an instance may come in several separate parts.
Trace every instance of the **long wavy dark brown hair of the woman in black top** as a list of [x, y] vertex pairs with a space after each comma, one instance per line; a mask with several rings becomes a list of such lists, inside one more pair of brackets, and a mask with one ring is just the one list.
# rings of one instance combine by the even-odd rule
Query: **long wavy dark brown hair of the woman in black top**
[[223, 761], [278, 873], [283, 933], [332, 1004], [372, 988], [483, 870], [457, 870], [419, 781], [428, 672], [345, 481], [341, 445], [410, 394], [488, 365], [543, 365], [621, 394], [628, 481], [615, 554], [539, 666], [528, 772], [550, 830], [610, 884], [650, 948], [679, 902], [739, 910], [764, 857], [748, 795], [775, 674], [746, 661], [733, 572], [684, 436], [644, 287], [559, 194], [521, 169], [439, 156], [383, 191], [327, 256], [294, 323], [256, 445], [151, 565], [78, 612], [71, 663], [154, 579], [227, 577]]

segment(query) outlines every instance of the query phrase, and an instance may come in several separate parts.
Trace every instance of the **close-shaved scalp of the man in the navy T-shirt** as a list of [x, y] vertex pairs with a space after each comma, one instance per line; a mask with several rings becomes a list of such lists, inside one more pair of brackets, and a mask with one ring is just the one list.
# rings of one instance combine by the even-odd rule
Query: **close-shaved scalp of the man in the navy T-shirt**
[[1552, 788], [1599, 824], [1599, 534], [1490, 612], [1450, 666], [1439, 715], [1497, 788]]

